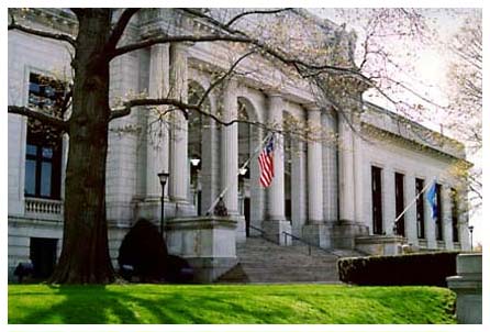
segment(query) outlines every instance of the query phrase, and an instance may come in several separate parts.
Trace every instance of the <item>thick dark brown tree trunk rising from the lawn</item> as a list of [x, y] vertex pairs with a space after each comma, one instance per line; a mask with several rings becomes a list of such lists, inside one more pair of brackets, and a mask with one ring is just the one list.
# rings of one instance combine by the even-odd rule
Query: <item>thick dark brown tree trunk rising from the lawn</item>
[[105, 161], [109, 125], [109, 59], [104, 46], [111, 27], [108, 9], [77, 13], [79, 32], [73, 114], [65, 185], [63, 250], [51, 278], [59, 284], [114, 280], [105, 219]]

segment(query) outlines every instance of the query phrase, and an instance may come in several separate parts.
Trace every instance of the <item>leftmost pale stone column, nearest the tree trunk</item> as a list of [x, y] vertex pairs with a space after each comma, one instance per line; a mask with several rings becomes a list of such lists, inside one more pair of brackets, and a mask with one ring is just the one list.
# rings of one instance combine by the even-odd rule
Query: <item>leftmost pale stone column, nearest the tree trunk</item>
[[[154, 45], [149, 57], [148, 97], [163, 98], [168, 93], [169, 46]], [[160, 107], [159, 111], [163, 111]], [[159, 198], [162, 186], [157, 174], [168, 171], [168, 131], [154, 110], [147, 111], [146, 126], [146, 198]], [[167, 191], [167, 187], [165, 188]], [[157, 214], [158, 215], [158, 214]]]

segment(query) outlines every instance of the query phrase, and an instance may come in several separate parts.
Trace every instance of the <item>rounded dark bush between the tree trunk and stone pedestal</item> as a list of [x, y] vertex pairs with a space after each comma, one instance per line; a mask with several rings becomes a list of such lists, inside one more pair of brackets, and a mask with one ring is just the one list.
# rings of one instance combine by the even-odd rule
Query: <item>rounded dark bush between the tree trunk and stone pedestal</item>
[[131, 280], [155, 283], [165, 277], [167, 245], [152, 222], [140, 219], [127, 232], [119, 248], [118, 263], [121, 276]]

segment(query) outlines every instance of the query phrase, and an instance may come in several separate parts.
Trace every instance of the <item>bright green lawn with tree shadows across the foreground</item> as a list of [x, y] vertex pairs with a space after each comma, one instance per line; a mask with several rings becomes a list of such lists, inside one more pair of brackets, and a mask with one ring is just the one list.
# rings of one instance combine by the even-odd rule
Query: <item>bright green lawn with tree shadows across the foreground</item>
[[10, 285], [9, 323], [456, 323], [437, 287]]

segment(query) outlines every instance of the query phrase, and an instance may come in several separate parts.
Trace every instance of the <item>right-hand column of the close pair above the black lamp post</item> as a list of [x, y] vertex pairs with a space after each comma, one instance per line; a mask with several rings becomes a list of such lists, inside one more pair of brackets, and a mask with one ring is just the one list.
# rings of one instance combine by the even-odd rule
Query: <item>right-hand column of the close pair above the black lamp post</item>
[[[187, 54], [183, 45], [170, 45], [170, 98], [187, 101]], [[187, 201], [189, 165], [187, 158], [188, 123], [180, 110], [171, 112], [169, 195]]]

